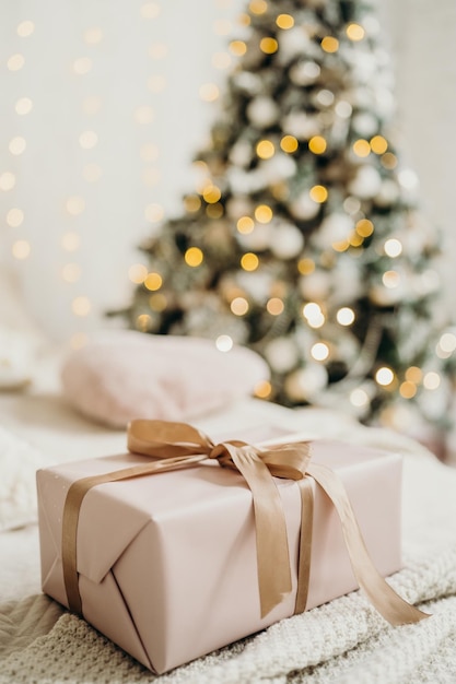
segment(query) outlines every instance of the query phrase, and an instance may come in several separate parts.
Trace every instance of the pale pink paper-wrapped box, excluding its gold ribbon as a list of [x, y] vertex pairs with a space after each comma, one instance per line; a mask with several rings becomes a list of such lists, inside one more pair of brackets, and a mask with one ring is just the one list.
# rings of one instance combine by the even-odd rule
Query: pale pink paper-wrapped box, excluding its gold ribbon
[[[313, 441], [312, 451], [313, 462], [328, 465], [343, 482], [378, 571], [400, 569], [400, 456], [329, 440]], [[143, 463], [143, 456], [125, 453], [38, 471], [43, 590], [61, 604], [68, 606], [61, 534], [69, 486]], [[292, 615], [301, 499], [293, 481], [276, 483], [287, 519], [292, 592], [265, 617], [252, 493], [239, 473], [204, 462], [106, 483], [86, 494], [78, 528], [85, 620], [160, 674]], [[307, 610], [358, 587], [336, 510], [314, 481], [312, 486]]]

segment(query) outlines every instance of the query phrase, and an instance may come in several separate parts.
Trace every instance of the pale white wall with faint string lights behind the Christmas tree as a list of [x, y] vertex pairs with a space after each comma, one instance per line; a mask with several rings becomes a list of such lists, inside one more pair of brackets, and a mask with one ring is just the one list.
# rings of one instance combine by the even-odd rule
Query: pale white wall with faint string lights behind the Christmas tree
[[[371, 3], [372, 4], [372, 3]], [[375, 3], [402, 157], [455, 287], [456, 4]], [[137, 246], [182, 208], [236, 59], [241, 0], [0, 1], [0, 326], [79, 345], [127, 305]]]

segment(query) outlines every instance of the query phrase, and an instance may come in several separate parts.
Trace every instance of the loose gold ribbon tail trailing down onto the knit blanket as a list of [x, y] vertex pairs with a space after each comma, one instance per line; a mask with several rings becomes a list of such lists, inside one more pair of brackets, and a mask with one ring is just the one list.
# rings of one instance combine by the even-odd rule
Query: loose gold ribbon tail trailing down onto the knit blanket
[[399, 597], [374, 566], [350, 499], [339, 477], [329, 468], [320, 463], [311, 463], [307, 472], [331, 499], [342, 523], [353, 574], [359, 586], [378, 613], [395, 626], [416, 623], [429, 617], [428, 613], [423, 613]]

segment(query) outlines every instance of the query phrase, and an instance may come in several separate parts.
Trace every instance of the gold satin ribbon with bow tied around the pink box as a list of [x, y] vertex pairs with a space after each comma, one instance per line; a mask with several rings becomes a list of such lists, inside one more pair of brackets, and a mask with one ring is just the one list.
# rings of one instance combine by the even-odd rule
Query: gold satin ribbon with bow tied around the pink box
[[354, 576], [377, 611], [394, 625], [428, 617], [426, 613], [404, 601], [376, 570], [342, 483], [330, 469], [311, 463], [308, 441], [273, 445], [266, 449], [238, 440], [214, 445], [207, 435], [186, 423], [138, 420], [128, 426], [128, 448], [132, 452], [157, 457], [160, 460], [82, 477], [73, 482], [68, 491], [62, 520], [62, 564], [71, 611], [82, 615], [77, 535], [79, 511], [85, 494], [100, 484], [195, 467], [209, 458], [217, 459], [223, 468], [238, 471], [252, 491], [261, 617], [292, 589], [285, 518], [273, 476], [297, 481], [301, 494], [302, 526], [295, 613], [305, 610], [308, 592], [313, 516], [311, 476], [329, 496], [339, 515]]

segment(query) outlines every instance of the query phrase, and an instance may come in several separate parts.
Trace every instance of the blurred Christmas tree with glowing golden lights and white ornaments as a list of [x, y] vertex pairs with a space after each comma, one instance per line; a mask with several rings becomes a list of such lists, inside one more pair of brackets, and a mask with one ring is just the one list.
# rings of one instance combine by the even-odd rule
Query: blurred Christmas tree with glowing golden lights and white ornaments
[[373, 5], [249, 3], [196, 191], [143, 246], [127, 315], [258, 351], [271, 368], [258, 397], [413, 428], [447, 415], [456, 335], [437, 236], [395, 150]]

